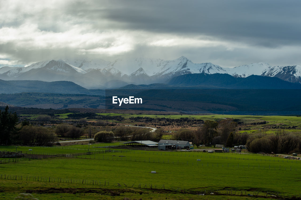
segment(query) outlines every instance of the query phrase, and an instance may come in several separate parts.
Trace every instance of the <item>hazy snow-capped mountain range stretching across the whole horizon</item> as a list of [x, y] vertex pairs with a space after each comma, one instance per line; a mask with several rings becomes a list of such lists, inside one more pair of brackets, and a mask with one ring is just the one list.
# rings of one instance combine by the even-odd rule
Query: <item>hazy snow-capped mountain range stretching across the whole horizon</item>
[[[300, 65], [271, 66], [268, 63], [258, 62], [234, 68], [222, 68], [221, 66], [214, 65], [210, 62], [193, 63], [184, 56], [175, 60], [134, 58], [117, 59], [114, 62], [102, 59], [47, 60], [33, 63], [27, 67], [4, 66], [0, 68], [0, 79], [42, 80], [48, 82], [64, 80], [72, 81], [88, 89], [107, 89], [118, 88], [128, 84], [175, 84], [175, 82], [170, 82], [174, 77], [183, 74], [202, 73], [230, 74], [235, 78], [246, 78], [251, 75], [259, 75], [277, 77], [291, 83], [301, 83]], [[201, 76], [202, 75], [194, 76], [194, 79], [196, 77], [201, 78]], [[185, 81], [182, 78], [181, 80]], [[191, 77], [186, 76], [186, 78]], [[226, 77], [226, 79], [232, 80], [230, 76]], [[199, 79], [199, 81], [200, 80], [201, 79]], [[258, 77], [254, 80], [258, 80]], [[239, 85], [242, 83], [238, 82], [231, 84], [237, 84], [238, 88], [244, 88], [244, 86], [240, 87]], [[246, 82], [246, 80], [243, 82]], [[265, 82], [268, 84], [269, 80]], [[281, 84], [284, 84], [287, 87], [294, 85], [287, 85], [286, 83], [282, 82]], [[200, 82], [196, 84], [204, 85]], [[182, 82], [182, 85], [187, 86], [187, 83]], [[296, 87], [298, 88], [298, 86], [293, 86], [293, 88]]]

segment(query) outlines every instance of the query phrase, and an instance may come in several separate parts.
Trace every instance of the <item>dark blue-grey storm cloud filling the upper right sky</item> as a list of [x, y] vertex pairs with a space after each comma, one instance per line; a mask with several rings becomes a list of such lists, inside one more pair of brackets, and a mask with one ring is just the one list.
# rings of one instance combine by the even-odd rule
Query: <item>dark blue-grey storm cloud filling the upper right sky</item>
[[[301, 1], [138, 0], [94, 3], [74, 4], [69, 11], [78, 11], [88, 21], [105, 18], [110, 21], [108, 27], [210, 35], [267, 47], [301, 43]], [[97, 20], [94, 25], [97, 29], [103, 27]]]

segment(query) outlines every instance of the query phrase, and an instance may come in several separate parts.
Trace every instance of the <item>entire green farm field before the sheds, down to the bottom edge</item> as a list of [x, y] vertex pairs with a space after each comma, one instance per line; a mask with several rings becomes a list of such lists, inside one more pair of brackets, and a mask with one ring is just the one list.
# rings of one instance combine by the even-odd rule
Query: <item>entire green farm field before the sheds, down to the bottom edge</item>
[[[99, 144], [90, 145], [90, 151], [108, 150], [92, 146]], [[1, 150], [14, 148], [2, 146]], [[28, 148], [17, 147], [17, 150]], [[71, 154], [87, 152], [88, 145], [32, 149], [32, 153]], [[21, 193], [27, 189], [33, 190], [34, 197], [39, 199], [251, 199], [240, 194], [253, 195], [256, 192], [259, 192], [260, 199], [265, 195], [279, 195], [282, 198], [299, 195], [300, 191], [301, 162], [296, 160], [261, 154], [113, 150], [115, 152], [74, 158], [56, 157], [0, 164], [0, 199], [13, 199], [16, 191]], [[152, 174], [151, 171], [157, 173]], [[11, 180], [16, 176], [17, 180]], [[19, 180], [20, 176], [22, 180]], [[72, 188], [77, 192], [46, 194], [50, 188]], [[114, 198], [109, 190], [123, 193]], [[205, 190], [206, 194], [221, 194], [197, 195]], [[236, 196], [225, 196], [230, 190]], [[143, 194], [140, 195], [139, 191]]]

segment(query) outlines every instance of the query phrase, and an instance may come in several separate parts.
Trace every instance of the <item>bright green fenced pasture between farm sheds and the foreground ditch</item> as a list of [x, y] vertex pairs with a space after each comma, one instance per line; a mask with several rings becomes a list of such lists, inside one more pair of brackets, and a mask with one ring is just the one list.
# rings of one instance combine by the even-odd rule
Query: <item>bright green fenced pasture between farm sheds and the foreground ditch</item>
[[[99, 144], [93, 144], [93, 146], [97, 145]], [[91, 146], [90, 150], [94, 149]], [[87, 147], [88, 145], [73, 145], [69, 149], [67, 147], [65, 149], [64, 147], [30, 148], [40, 153], [82, 153], [87, 151]], [[14, 150], [15, 147], [2, 147], [2, 149], [4, 148]], [[17, 150], [23, 148], [28, 150], [29, 147], [17, 147]], [[201, 161], [197, 161], [197, 159], [201, 159]], [[0, 186], [0, 190], [4, 191], [10, 190], [7, 187], [23, 191], [21, 186], [25, 188], [99, 188], [99, 186], [92, 184], [79, 183], [79, 180], [86, 180], [87, 182], [98, 180], [102, 183], [101, 188], [110, 189], [129, 189], [132, 184], [134, 184], [132, 189], [138, 189], [137, 186], [141, 184], [141, 186], [152, 185], [157, 188], [164, 185], [165, 189], [179, 188], [179, 190], [188, 189], [189, 191], [215, 191], [216, 189], [225, 191], [225, 187], [240, 191], [254, 188], [254, 190], [261, 192], [296, 195], [299, 194], [298, 177], [301, 171], [301, 162], [258, 154], [130, 150], [123, 153], [84, 155], [78, 158], [10, 162], [1, 164], [0, 168], [2, 175], [23, 177], [23, 180], [14, 180], [14, 182], [13, 180], [5, 180], [8, 183], [5, 182], [4, 186], [3, 184]], [[157, 171], [157, 174], [151, 174], [151, 171]], [[44, 181], [32, 180], [33, 177], [38, 176], [47, 177], [47, 180], [49, 177], [55, 180], [72, 179], [75, 183], [44, 183]], [[31, 181], [24, 180], [25, 177], [31, 177]], [[0, 181], [2, 182], [3, 179]], [[10, 181], [13, 183], [17, 181], [19, 184], [10, 186]], [[104, 181], [109, 181], [110, 186], [104, 186]], [[117, 183], [122, 186], [117, 186]], [[91, 198], [92, 196], [91, 194]]]

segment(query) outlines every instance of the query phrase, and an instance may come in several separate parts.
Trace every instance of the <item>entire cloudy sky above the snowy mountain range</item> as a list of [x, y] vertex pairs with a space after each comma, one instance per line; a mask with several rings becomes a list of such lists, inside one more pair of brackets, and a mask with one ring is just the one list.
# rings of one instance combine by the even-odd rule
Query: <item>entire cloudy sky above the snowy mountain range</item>
[[299, 0], [0, 0], [0, 67], [50, 59], [301, 65]]

